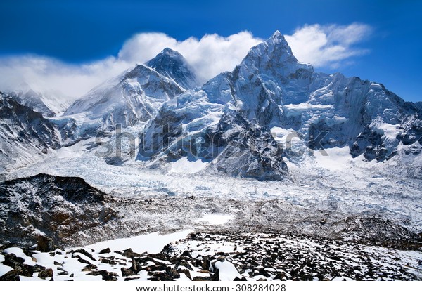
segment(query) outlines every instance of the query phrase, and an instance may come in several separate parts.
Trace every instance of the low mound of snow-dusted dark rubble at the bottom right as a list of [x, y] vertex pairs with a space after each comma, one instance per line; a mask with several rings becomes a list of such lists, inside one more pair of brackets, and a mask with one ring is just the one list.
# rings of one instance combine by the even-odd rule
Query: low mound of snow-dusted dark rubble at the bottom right
[[316, 237], [197, 233], [169, 244], [163, 253], [208, 257], [212, 261], [210, 270], [218, 269], [220, 280], [422, 280], [420, 250], [401, 251]]

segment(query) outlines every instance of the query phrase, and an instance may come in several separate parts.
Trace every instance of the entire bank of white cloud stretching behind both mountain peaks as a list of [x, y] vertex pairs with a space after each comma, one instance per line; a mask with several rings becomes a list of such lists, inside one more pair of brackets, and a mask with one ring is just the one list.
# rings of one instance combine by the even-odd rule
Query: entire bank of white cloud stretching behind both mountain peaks
[[[298, 60], [316, 67], [337, 67], [353, 56], [366, 53], [355, 44], [366, 38], [371, 27], [354, 23], [339, 25], [305, 25], [286, 39]], [[271, 33], [271, 32], [269, 32]], [[201, 82], [220, 72], [233, 70], [250, 47], [262, 39], [250, 32], [229, 37], [207, 34], [201, 39], [178, 41], [162, 33], [141, 33], [127, 40], [117, 57], [82, 65], [70, 65], [53, 58], [35, 55], [0, 58], [0, 91], [17, 89], [26, 82], [36, 91], [56, 89], [68, 96], [82, 96], [102, 81], [120, 74], [136, 63], [145, 63], [170, 47], [190, 63]]]

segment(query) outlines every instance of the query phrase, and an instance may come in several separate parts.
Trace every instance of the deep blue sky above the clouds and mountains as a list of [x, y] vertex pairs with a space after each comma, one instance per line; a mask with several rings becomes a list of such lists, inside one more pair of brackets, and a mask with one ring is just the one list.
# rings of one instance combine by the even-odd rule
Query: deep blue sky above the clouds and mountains
[[92, 63], [117, 57], [142, 32], [183, 41], [249, 31], [266, 39], [276, 29], [293, 35], [305, 25], [357, 23], [369, 29], [347, 50], [359, 53], [316, 70], [378, 81], [405, 100], [422, 100], [422, 1], [2, 0], [0, 11], [0, 63], [28, 54]]

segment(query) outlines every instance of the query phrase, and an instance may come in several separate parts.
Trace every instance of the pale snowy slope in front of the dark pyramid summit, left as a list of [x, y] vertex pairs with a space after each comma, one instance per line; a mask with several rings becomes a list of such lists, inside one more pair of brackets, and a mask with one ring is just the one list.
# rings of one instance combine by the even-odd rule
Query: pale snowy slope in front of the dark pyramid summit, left
[[151, 119], [165, 100], [181, 92], [179, 85], [151, 67], [136, 65], [76, 100], [64, 115], [85, 112], [89, 119], [100, 119], [101, 129], [132, 126]]

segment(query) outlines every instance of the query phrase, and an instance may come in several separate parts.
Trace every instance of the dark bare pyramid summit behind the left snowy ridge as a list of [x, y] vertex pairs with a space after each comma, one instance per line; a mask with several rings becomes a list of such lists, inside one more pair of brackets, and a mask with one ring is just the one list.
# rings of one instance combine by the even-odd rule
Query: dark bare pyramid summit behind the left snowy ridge
[[193, 89], [198, 86], [196, 75], [186, 59], [170, 48], [164, 48], [155, 58], [146, 63], [163, 76], [174, 80], [184, 89]]

